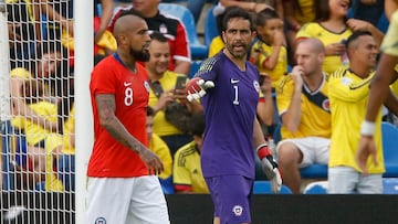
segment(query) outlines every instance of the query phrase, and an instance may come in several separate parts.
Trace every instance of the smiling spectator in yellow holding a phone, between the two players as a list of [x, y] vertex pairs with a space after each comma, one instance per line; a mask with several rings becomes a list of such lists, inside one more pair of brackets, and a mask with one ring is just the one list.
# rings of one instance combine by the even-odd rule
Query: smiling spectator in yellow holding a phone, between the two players
[[170, 47], [166, 36], [159, 32], [154, 32], [150, 34], [150, 58], [146, 62], [146, 70], [150, 79], [149, 106], [155, 113], [154, 132], [167, 143], [172, 157], [177, 149], [191, 142], [192, 137], [166, 119], [166, 106], [168, 104], [186, 105], [190, 113], [200, 111], [202, 107], [198, 102], [189, 103], [186, 99], [187, 76], [168, 70]]

